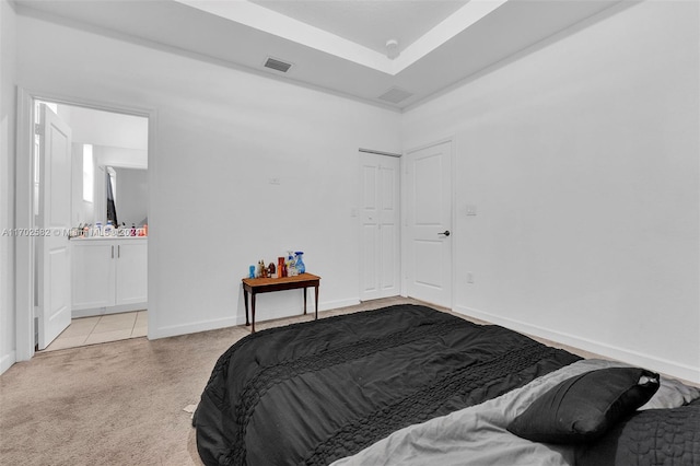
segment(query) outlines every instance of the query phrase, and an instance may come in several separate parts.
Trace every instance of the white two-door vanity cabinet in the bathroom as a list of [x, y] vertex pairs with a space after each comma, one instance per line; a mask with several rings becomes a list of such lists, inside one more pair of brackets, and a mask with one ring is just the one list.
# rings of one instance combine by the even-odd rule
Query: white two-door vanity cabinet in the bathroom
[[[145, 308], [148, 240], [74, 240], [72, 244], [73, 316]], [[102, 313], [102, 312], [100, 312]]]

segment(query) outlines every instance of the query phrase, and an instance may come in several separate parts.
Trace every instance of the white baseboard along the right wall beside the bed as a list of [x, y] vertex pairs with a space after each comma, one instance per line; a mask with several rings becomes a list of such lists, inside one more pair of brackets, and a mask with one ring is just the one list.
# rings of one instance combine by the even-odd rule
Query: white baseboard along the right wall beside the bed
[[674, 361], [669, 361], [663, 358], [655, 357], [653, 354], [645, 354], [638, 351], [631, 351], [625, 348], [619, 348], [614, 345], [608, 345], [600, 341], [590, 340], [587, 338], [576, 337], [575, 335], [552, 330], [549, 328], [540, 327], [537, 325], [527, 324], [524, 322], [501, 317], [488, 312], [475, 310], [465, 306], [455, 306], [454, 311], [464, 314], [466, 316], [476, 317], [481, 321], [489, 322], [491, 324], [500, 325], [502, 327], [510, 328], [522, 334], [536, 336], [539, 338], [546, 338], [551, 341], [556, 341], [561, 345], [568, 345], [573, 348], [578, 348], [584, 351], [600, 354], [605, 358], [615, 359], [618, 361], [627, 362], [628, 364], [640, 365], [645, 369], [661, 372], [663, 374], [670, 375], [673, 377], [682, 378], [692, 383], [700, 383], [700, 368], [693, 368], [687, 364], [679, 364]]

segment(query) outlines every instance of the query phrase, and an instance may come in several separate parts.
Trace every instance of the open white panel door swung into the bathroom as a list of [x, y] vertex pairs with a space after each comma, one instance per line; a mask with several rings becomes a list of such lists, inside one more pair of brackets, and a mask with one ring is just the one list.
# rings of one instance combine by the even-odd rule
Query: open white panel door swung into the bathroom
[[37, 226], [38, 349], [71, 319], [71, 132], [58, 115], [39, 106], [39, 214]]

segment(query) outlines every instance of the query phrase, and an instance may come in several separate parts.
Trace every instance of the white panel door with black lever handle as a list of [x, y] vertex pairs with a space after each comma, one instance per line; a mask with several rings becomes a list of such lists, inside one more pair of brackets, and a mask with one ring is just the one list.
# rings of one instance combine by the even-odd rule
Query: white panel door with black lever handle
[[407, 293], [452, 307], [452, 142], [406, 154]]

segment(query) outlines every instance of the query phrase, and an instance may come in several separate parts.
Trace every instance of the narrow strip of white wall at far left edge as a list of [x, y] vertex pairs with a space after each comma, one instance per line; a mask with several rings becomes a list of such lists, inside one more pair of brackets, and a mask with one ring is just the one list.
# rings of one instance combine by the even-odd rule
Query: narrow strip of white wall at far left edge
[[[16, 14], [0, 0], [0, 232], [14, 228]], [[15, 362], [14, 238], [0, 234], [0, 373]]]

